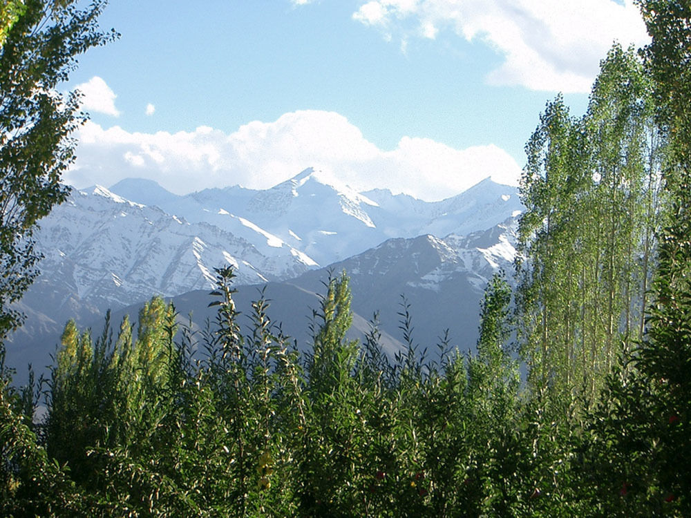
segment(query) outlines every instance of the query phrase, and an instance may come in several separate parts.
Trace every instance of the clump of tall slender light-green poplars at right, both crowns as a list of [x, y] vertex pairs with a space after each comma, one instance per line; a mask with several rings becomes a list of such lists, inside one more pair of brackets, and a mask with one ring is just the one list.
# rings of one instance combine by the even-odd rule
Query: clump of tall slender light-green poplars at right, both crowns
[[664, 139], [633, 50], [614, 45], [582, 119], [547, 104], [529, 140], [519, 227], [519, 341], [538, 394], [593, 399], [643, 334]]

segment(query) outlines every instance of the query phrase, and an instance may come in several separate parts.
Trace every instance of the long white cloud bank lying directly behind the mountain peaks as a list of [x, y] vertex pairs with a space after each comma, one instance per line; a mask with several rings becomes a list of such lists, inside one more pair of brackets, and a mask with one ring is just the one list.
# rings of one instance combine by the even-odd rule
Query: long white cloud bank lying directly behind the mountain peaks
[[77, 164], [65, 175], [77, 187], [150, 178], [176, 193], [242, 184], [265, 189], [314, 166], [359, 191], [388, 188], [425, 200], [448, 198], [487, 176], [518, 184], [520, 167], [497, 146], [458, 150], [403, 137], [392, 151], [366, 140], [342, 115], [286, 113], [227, 135], [201, 126], [178, 133], [129, 133], [93, 122], [80, 128]]

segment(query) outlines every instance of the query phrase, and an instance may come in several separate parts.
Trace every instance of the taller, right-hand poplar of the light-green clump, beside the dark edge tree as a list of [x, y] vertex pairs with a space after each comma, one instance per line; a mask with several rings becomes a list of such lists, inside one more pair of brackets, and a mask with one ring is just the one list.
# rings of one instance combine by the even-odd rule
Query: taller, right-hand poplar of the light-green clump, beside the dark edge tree
[[592, 343], [601, 351], [591, 352], [591, 368], [603, 374], [614, 364], [622, 340], [630, 349], [642, 337], [652, 233], [661, 209], [663, 138], [653, 115], [652, 84], [641, 59], [615, 44], [600, 64], [585, 117], [593, 178], [587, 196], [594, 215], [589, 225], [589, 282], [596, 286]]

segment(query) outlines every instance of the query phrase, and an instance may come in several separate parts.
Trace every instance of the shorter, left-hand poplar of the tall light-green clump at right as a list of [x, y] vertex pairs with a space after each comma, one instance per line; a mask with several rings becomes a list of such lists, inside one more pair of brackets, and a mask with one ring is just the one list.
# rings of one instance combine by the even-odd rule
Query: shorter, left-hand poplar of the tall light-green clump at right
[[[526, 144], [521, 182], [527, 210], [520, 218], [516, 271], [518, 339], [536, 390], [569, 390], [576, 372], [574, 341], [580, 257], [576, 229], [583, 214], [576, 199], [583, 191], [582, 124], [569, 115], [561, 97], [548, 102]], [[568, 259], [567, 259], [568, 258]]]

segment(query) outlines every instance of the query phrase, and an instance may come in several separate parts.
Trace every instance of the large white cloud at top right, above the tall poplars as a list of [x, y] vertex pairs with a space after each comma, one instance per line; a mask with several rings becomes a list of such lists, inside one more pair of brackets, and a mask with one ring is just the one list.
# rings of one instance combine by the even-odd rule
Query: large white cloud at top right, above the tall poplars
[[504, 58], [489, 84], [587, 93], [612, 42], [648, 41], [633, 0], [371, 0], [353, 19], [386, 39], [435, 39], [451, 30]]

